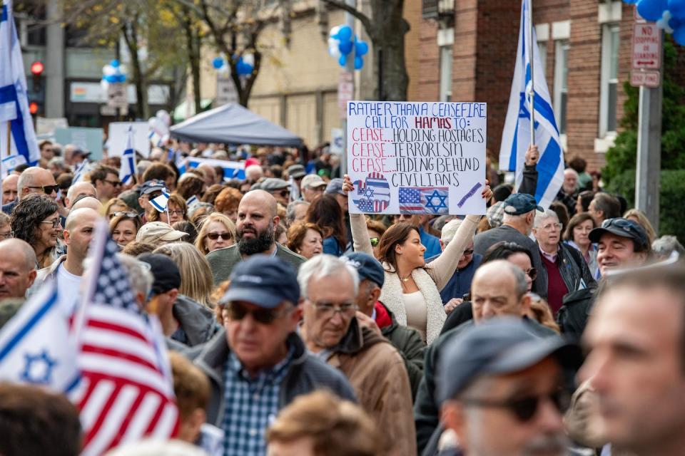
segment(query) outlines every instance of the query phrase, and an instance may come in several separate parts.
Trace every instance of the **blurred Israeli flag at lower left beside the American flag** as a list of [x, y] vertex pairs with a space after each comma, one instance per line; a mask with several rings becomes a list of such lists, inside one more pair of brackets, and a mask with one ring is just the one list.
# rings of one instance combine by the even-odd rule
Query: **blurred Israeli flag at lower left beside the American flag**
[[76, 343], [63, 306], [49, 279], [0, 330], [0, 380], [59, 393], [76, 388]]

